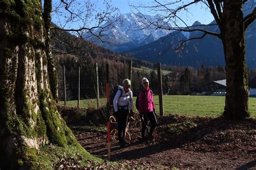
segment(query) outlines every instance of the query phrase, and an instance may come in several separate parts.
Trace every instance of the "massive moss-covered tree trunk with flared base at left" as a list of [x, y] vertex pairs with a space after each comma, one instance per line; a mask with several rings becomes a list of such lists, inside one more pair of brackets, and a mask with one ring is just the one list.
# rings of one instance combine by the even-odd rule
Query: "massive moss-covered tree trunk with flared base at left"
[[0, 2], [0, 167], [33, 167], [45, 144], [78, 146], [50, 92], [41, 6]]

